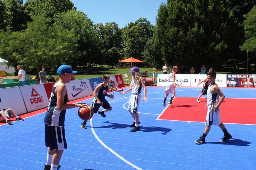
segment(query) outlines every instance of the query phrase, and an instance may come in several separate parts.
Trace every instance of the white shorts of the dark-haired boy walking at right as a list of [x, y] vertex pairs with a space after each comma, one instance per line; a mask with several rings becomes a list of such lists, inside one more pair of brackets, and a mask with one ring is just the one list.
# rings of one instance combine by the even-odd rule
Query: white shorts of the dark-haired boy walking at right
[[219, 109], [214, 112], [213, 107], [216, 105], [217, 103], [212, 103], [212, 104], [208, 104], [207, 106], [207, 115], [206, 115], [206, 121], [205, 121], [205, 125], [206, 126], [210, 126], [210, 125], [219, 125], [221, 123], [220, 120], [220, 107]]

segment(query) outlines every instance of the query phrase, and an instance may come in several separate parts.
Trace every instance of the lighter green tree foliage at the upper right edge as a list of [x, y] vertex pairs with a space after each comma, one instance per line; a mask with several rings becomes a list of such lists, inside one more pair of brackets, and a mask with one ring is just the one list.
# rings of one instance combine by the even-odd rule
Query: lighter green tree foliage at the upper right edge
[[241, 46], [241, 49], [247, 52], [256, 53], [256, 8], [244, 15], [244, 30], [247, 39]]

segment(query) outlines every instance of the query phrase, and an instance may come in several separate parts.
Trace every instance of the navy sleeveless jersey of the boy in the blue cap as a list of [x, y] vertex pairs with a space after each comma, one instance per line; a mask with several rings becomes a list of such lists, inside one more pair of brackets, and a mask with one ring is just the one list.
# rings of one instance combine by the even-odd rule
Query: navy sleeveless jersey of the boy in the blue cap
[[[49, 99], [49, 104], [47, 106], [47, 111], [44, 116], [44, 123], [48, 126], [64, 126], [66, 109], [59, 110], [57, 106], [57, 96], [55, 95], [55, 89], [61, 82], [55, 83], [52, 88], [51, 97]], [[64, 104], [67, 103], [68, 95], [65, 94]]]

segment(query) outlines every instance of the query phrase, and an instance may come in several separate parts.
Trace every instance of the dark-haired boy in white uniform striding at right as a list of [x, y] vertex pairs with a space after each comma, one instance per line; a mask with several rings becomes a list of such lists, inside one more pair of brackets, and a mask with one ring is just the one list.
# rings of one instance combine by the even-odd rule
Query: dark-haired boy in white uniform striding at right
[[[211, 125], [219, 125], [220, 129], [224, 132], [224, 137], [221, 139], [221, 142], [226, 142], [232, 138], [228, 133], [225, 125], [220, 120], [220, 105], [225, 99], [224, 94], [221, 92], [217, 84], [215, 84], [216, 73], [215, 71], [207, 73], [207, 81], [210, 83], [207, 90], [207, 104], [205, 107], [208, 109], [205, 121], [205, 129], [203, 135], [196, 140], [197, 144], [204, 144], [205, 137], [211, 129]], [[220, 100], [219, 100], [220, 96]]]

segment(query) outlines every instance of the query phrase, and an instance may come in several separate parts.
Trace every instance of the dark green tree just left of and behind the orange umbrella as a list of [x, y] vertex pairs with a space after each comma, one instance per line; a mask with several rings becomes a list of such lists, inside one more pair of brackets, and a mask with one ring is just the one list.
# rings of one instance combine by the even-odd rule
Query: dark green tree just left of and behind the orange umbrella
[[102, 55], [104, 63], [108, 63], [114, 67], [118, 63], [122, 51], [122, 31], [115, 22], [97, 24], [96, 29], [100, 35], [102, 42]]

